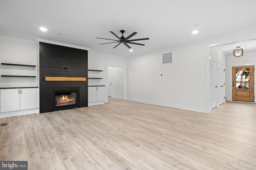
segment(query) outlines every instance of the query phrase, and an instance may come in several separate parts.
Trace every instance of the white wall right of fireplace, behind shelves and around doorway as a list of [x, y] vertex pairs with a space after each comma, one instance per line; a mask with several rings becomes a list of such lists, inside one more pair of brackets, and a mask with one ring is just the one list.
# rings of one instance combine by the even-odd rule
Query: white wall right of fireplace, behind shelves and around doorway
[[[106, 55], [102, 53], [95, 53], [92, 51], [88, 51], [88, 69], [90, 70], [103, 70], [103, 72], [90, 72], [88, 71], [88, 77], [101, 77], [103, 79], [88, 79], [88, 86], [97, 86], [104, 85], [106, 92], [106, 100], [107, 101], [107, 66], [115, 66], [115, 67], [123, 67], [126, 69], [126, 58], [117, 57], [113, 55]], [[118, 93], [119, 90], [118, 90]]]

